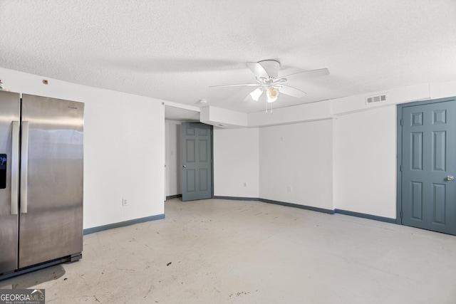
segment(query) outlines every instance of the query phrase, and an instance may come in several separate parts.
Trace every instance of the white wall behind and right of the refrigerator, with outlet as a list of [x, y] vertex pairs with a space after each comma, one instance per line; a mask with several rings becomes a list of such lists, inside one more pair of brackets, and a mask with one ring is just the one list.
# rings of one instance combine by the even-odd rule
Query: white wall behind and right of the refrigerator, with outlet
[[[161, 100], [0, 68], [6, 90], [85, 103], [84, 229], [164, 213]], [[128, 206], [122, 206], [122, 199]]]

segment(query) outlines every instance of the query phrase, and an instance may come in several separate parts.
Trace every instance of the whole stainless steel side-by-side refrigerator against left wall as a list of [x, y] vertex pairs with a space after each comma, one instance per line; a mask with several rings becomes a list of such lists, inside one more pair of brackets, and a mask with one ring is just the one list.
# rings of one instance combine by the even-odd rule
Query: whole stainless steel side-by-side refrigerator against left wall
[[82, 256], [83, 112], [0, 90], [0, 280]]

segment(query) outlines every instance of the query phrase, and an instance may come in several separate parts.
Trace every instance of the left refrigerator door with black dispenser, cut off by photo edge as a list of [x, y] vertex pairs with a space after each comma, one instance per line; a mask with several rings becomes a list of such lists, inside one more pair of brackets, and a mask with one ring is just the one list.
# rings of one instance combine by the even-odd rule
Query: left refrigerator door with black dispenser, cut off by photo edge
[[0, 90], [0, 273], [17, 268], [20, 101], [18, 93]]

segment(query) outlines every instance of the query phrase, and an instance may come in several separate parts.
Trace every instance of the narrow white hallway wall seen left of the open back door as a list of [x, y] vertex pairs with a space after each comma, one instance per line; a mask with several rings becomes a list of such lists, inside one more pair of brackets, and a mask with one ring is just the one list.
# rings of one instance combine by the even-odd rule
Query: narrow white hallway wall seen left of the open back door
[[165, 120], [166, 196], [182, 194], [180, 125], [179, 121]]

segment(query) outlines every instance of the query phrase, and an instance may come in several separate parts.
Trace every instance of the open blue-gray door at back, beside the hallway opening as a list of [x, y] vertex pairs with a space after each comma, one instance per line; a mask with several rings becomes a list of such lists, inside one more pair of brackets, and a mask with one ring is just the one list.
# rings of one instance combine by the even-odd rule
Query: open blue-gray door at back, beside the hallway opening
[[212, 126], [182, 122], [182, 201], [212, 197]]

